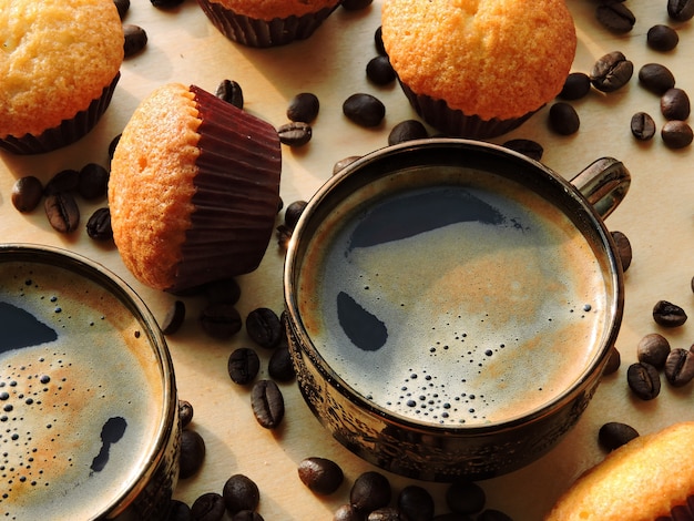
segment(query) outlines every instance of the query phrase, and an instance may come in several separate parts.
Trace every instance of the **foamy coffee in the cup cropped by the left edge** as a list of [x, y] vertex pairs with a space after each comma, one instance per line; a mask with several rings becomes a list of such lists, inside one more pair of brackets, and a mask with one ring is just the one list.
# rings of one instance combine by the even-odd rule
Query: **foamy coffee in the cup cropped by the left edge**
[[163, 415], [157, 357], [139, 319], [92, 280], [8, 262], [0, 285], [12, 333], [0, 340], [0, 519], [92, 519], [149, 463]]

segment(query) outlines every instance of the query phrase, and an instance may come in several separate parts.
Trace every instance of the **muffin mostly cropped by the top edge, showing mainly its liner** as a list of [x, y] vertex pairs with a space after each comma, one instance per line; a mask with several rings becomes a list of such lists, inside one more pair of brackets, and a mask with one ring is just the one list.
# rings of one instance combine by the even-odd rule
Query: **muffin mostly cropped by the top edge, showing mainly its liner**
[[229, 40], [275, 47], [310, 37], [341, 0], [197, 0]]

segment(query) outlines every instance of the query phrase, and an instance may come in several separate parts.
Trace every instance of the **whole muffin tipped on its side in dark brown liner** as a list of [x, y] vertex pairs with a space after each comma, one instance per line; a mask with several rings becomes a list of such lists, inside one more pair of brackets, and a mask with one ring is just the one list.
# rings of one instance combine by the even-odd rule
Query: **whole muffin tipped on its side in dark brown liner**
[[109, 207], [123, 263], [172, 293], [254, 270], [273, 234], [280, 170], [274, 126], [195, 85], [159, 88], [113, 154]]

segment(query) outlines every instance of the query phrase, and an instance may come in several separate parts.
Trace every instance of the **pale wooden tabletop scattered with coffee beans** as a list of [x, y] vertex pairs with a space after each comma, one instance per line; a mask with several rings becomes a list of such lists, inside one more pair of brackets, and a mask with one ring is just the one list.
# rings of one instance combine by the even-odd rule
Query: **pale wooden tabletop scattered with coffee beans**
[[[310, 91], [318, 95], [320, 114], [314, 123], [312, 142], [296, 150], [283, 147], [282, 197], [285, 204], [307, 200], [330, 176], [336, 161], [386, 145], [392, 125], [415, 116], [396, 84], [376, 86], [366, 79], [365, 67], [376, 55], [374, 33], [380, 24], [380, 3], [376, 0], [370, 8], [356, 12], [340, 8], [309, 40], [257, 50], [223, 38], [192, 0], [171, 11], [159, 10], [146, 0], [134, 0], [125, 22], [144, 28], [149, 43], [144, 52], [123, 63], [113, 102], [98, 127], [79, 143], [53, 153], [29, 157], [0, 153], [0, 239], [65, 247], [102, 263], [130, 283], [154, 315], [163, 319], [173, 296], [135, 282], [116, 249], [90, 239], [83, 225], [64, 236], [49, 226], [42, 210], [31, 214], [17, 212], [10, 201], [14, 181], [30, 174], [48, 181], [63, 168], [80, 168], [88, 162], [108, 164], [110, 141], [122, 131], [140, 100], [163, 83], [194, 83], [214, 92], [222, 80], [231, 79], [242, 85], [246, 110], [276, 126], [287, 121], [287, 103], [295, 94]], [[603, 458], [596, 435], [604, 422], [624, 421], [646, 433], [694, 418], [693, 385], [673, 389], [664, 382], [657, 399], [642, 402], [632, 397], [625, 376], [644, 335], [660, 331], [673, 347], [688, 348], [694, 341], [692, 320], [665, 330], [651, 316], [653, 305], [661, 299], [694, 314], [690, 285], [694, 275], [692, 149], [670, 150], [660, 134], [641, 143], [630, 133], [631, 116], [639, 111], [655, 119], [659, 132], [664, 122], [659, 98], [639, 85], [636, 72], [643, 64], [665, 64], [675, 74], [677, 86], [694, 93], [692, 22], [669, 20], [665, 0], [629, 0], [625, 4], [635, 13], [636, 24], [630, 33], [618, 35], [595, 21], [595, 4], [569, 0], [579, 34], [573, 70], [590, 72], [598, 58], [620, 50], [634, 63], [631, 82], [615, 93], [593, 91], [574, 102], [581, 129], [572, 136], [557, 136], [548, 130], [545, 108], [521, 129], [493, 140], [502, 143], [511, 137], [527, 137], [540, 142], [545, 151], [543, 162], [567, 177], [601, 156], [623, 161], [633, 177], [626, 200], [606, 219], [608, 227], [626, 234], [633, 247], [618, 340], [621, 369], [604, 379], [576, 428], [555, 450], [530, 467], [481, 483], [488, 507], [518, 521], [541, 519], [580, 472]], [[674, 51], [662, 53], [646, 45], [646, 32], [657, 23], [677, 29], [680, 44]], [[371, 93], [386, 104], [381, 126], [365, 130], [343, 115], [343, 101], [355, 92]], [[105, 204], [105, 200], [89, 204], [81, 201], [83, 224]], [[282, 310], [283, 259], [283, 251], [273, 239], [261, 267], [239, 277], [243, 295], [238, 308], [243, 316], [259, 306]], [[180, 397], [194, 407], [192, 428], [203, 436], [207, 454], [200, 472], [178, 483], [175, 497], [191, 504], [204, 492], [221, 493], [228, 477], [244, 473], [259, 487], [259, 512], [266, 520], [330, 520], [333, 512], [348, 501], [355, 478], [375, 468], [326, 433], [293, 382], [280, 385], [286, 401], [282, 427], [275, 431], [263, 429], [251, 411], [249, 388], [233, 384], [226, 369], [232, 350], [252, 346], [252, 341], [245, 331], [229, 341], [208, 338], [197, 324], [202, 300], [187, 298], [185, 303], [186, 321], [167, 340]], [[258, 351], [263, 360], [259, 377], [267, 377], [268, 353]], [[309, 456], [330, 458], [344, 469], [345, 483], [335, 494], [317, 497], [298, 480], [297, 464]], [[396, 492], [407, 484], [425, 484], [437, 500], [437, 512], [447, 511], [445, 484], [386, 474]]]

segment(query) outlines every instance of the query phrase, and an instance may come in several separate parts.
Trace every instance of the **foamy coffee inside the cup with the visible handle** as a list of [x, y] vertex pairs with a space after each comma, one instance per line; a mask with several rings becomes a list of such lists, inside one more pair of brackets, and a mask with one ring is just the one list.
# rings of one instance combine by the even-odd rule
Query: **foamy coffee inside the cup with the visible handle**
[[606, 282], [541, 196], [488, 172], [446, 175], [437, 187], [392, 175], [329, 213], [302, 262], [302, 320], [376, 406], [435, 425], [501, 422], [552, 401], [598, 356]]

